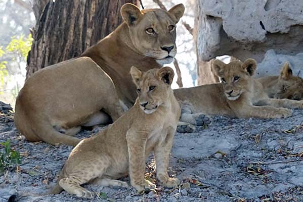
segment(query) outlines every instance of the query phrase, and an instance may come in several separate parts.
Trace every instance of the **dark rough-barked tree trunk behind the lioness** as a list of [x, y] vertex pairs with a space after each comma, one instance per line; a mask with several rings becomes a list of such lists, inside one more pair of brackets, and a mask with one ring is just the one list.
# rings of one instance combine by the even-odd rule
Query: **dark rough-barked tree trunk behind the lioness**
[[[36, 26], [27, 57], [28, 78], [35, 71], [79, 56], [122, 22], [120, 8], [138, 0], [35, 0]], [[37, 17], [41, 14], [40, 17]]]

